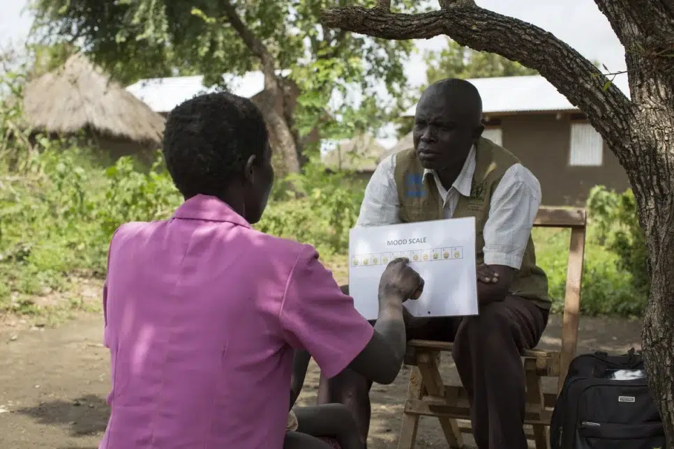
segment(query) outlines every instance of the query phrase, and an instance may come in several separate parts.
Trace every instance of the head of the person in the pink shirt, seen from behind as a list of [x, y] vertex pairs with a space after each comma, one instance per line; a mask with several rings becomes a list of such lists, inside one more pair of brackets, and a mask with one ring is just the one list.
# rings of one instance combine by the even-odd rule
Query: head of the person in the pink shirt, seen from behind
[[274, 183], [260, 109], [232, 93], [209, 93], [169, 114], [163, 153], [173, 182], [189, 199], [218, 197], [248, 222], [260, 220]]

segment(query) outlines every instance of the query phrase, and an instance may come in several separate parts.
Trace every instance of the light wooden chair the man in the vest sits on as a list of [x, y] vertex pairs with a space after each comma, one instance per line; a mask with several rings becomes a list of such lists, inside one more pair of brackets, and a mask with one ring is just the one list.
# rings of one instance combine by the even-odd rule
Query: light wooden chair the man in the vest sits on
[[[578, 340], [578, 310], [581, 300], [583, 253], [585, 252], [585, 210], [541, 208], [534, 227], [570, 228], [569, 263], [567, 266], [562, 347], [560, 351], [532, 349], [525, 351], [523, 364], [527, 379], [527, 409], [525, 425], [537, 449], [549, 448], [548, 426], [557, 395], [576, 353]], [[445, 385], [440, 374], [440, 354], [451, 353], [451, 343], [410, 340], [405, 363], [412, 366], [407, 400], [400, 427], [398, 449], [412, 449], [417, 439], [421, 416], [435, 416], [450, 448], [463, 448], [463, 433], [471, 433], [470, 406], [462, 386]], [[557, 392], [543, 393], [541, 377], [557, 377]], [[468, 421], [459, 425], [458, 420]], [[465, 424], [465, 423], [463, 423]], [[528, 429], [525, 428], [525, 432]]]

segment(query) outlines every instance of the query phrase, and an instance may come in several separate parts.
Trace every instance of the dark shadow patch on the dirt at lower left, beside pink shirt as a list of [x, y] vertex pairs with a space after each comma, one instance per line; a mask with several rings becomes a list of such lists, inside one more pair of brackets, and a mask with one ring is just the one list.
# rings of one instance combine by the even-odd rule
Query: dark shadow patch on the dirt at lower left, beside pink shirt
[[17, 409], [15, 413], [30, 416], [43, 425], [68, 426], [70, 436], [89, 436], [105, 431], [110, 408], [105, 399], [85, 395], [73, 401], [42, 402], [38, 406]]

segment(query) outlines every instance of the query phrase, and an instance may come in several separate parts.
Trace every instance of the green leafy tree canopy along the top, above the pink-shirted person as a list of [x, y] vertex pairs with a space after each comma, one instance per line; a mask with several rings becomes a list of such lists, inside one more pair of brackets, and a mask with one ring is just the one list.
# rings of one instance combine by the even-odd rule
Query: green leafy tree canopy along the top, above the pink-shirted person
[[[375, 6], [375, 0], [365, 3]], [[424, 7], [417, 3], [401, 1], [398, 8], [420, 12]], [[343, 4], [343, 0], [34, 0], [31, 7], [36, 13], [33, 36], [41, 43], [77, 43], [123, 84], [189, 74], [204, 75], [207, 85], [224, 84], [223, 73], [262, 70], [269, 75], [265, 88], [274, 90], [282, 82], [274, 70], [290, 70], [290, 79], [301, 92], [297, 109], [282, 118], [270, 116], [268, 124], [286, 138], [292, 132], [293, 143], [298, 144], [299, 136], [326, 114], [341, 119], [322, 126], [326, 137], [372, 130], [359, 128], [381, 125], [407, 91], [403, 64], [412, 42], [370, 38], [319, 23], [323, 8]], [[377, 96], [382, 84], [394, 102]], [[354, 100], [354, 93], [359, 98]], [[361, 99], [366, 99], [364, 108]]]

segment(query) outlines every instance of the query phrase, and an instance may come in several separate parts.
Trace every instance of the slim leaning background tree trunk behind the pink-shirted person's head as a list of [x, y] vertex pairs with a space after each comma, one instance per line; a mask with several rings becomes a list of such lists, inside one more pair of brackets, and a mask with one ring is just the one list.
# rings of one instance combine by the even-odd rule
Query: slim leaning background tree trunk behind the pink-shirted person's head
[[267, 122], [267, 127], [271, 135], [276, 137], [276, 142], [280, 148], [275, 150], [283, 154], [284, 167], [281, 168], [281, 174], [299, 173], [299, 151], [295, 134], [285, 117], [285, 89], [278, 75], [276, 75], [276, 61], [274, 56], [267, 50], [267, 47], [261, 40], [253, 34], [246, 24], [241, 20], [236, 8], [229, 0], [220, 0], [221, 7], [232, 27], [239, 33], [241, 39], [260, 59], [260, 66], [264, 74], [264, 90], [269, 95], [269, 102], [262, 102], [260, 110]]

